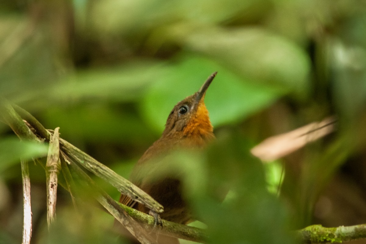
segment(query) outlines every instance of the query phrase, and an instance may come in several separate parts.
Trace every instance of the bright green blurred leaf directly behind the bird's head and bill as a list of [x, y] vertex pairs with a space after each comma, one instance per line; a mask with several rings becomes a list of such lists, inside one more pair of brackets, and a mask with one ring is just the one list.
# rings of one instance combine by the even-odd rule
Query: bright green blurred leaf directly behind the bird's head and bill
[[203, 57], [187, 55], [154, 81], [143, 100], [143, 115], [154, 128], [162, 131], [173, 106], [198, 91], [214, 71], [218, 71], [217, 76], [205, 97], [214, 126], [244, 119], [270, 105], [286, 92], [254, 85], [224, 65]]

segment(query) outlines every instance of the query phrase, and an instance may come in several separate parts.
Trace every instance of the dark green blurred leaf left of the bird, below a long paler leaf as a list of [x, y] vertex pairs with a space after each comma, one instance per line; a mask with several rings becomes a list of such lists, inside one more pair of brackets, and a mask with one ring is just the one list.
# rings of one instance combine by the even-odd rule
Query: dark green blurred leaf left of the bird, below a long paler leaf
[[52, 108], [43, 114], [43, 120], [45, 124], [59, 126], [64, 138], [124, 144], [154, 139], [141, 118], [122, 109], [113, 110], [105, 104]]

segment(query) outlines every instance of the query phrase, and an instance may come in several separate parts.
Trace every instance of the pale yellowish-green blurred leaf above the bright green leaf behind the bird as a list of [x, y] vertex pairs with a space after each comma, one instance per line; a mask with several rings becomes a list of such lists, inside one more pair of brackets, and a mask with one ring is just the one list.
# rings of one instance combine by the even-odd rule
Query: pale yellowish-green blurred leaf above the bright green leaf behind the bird
[[236, 74], [280, 86], [304, 97], [309, 90], [310, 59], [299, 46], [259, 28], [205, 29], [183, 39]]

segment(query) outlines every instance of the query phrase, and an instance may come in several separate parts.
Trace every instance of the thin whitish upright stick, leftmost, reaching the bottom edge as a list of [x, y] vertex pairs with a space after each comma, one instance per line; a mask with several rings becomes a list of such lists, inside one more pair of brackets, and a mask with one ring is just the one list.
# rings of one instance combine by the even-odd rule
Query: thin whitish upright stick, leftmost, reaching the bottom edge
[[23, 238], [22, 244], [30, 244], [32, 236], [32, 211], [30, 204], [30, 178], [28, 162], [20, 160], [22, 166], [22, 181], [23, 181]]

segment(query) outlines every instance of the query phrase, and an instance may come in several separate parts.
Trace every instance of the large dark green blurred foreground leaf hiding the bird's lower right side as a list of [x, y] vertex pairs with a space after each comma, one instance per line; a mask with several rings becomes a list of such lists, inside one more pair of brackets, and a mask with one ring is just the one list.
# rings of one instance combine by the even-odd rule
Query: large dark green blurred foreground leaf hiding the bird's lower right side
[[[208, 193], [194, 195], [194, 207], [209, 227], [211, 243], [292, 243], [285, 208], [268, 193], [263, 165], [250, 147], [239, 133], [217, 136], [206, 159]], [[232, 197], [220, 203], [213, 196], [223, 186]]]

